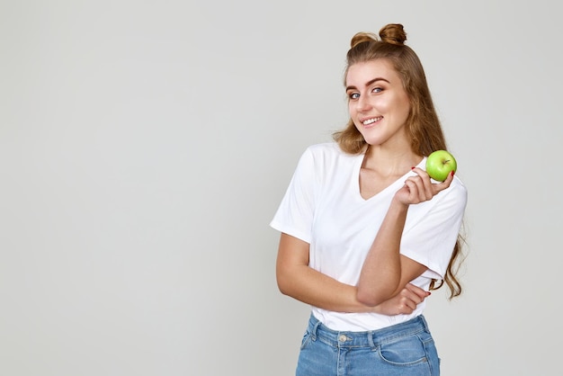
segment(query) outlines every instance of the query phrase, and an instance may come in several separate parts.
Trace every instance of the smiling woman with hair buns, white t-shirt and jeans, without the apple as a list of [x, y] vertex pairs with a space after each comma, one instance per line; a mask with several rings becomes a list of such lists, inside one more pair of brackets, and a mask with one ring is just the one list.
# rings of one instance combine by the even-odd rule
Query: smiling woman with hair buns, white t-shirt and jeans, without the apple
[[303, 153], [271, 223], [279, 288], [311, 306], [297, 375], [440, 374], [423, 310], [443, 282], [460, 294], [467, 191], [453, 174], [435, 182], [425, 172], [446, 144], [406, 40], [401, 24], [353, 36], [350, 121]]

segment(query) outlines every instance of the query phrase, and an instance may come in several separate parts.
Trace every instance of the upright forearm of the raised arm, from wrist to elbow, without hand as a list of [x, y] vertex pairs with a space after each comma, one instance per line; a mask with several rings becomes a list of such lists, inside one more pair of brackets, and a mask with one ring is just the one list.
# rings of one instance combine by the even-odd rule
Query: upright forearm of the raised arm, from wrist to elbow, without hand
[[357, 299], [376, 306], [396, 295], [405, 284], [402, 277], [400, 240], [408, 205], [391, 201], [380, 230], [362, 266]]

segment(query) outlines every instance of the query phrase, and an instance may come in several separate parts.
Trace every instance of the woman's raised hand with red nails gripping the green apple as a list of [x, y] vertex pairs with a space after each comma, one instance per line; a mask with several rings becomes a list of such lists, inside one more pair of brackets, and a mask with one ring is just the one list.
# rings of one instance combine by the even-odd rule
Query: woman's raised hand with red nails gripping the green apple
[[448, 188], [453, 180], [453, 174], [450, 174], [442, 183], [433, 184], [422, 168], [415, 167], [413, 172], [416, 175], [409, 176], [405, 185], [395, 195], [396, 199], [405, 205], [431, 200], [433, 196]]

